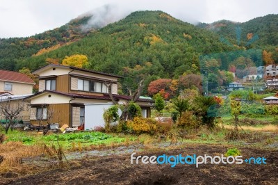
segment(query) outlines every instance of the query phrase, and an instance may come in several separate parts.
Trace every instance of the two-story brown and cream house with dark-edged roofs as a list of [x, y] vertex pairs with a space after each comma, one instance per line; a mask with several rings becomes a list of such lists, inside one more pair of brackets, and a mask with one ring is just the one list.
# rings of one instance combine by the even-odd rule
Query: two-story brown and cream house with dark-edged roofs
[[[112, 84], [113, 97], [117, 102], [124, 103], [131, 99], [118, 95], [117, 82], [122, 77], [114, 74], [54, 64], [44, 66], [33, 74], [39, 76], [39, 92], [27, 98], [31, 102], [32, 124], [38, 124], [38, 120], [45, 124], [50, 117], [51, 123], [60, 126], [68, 124], [69, 127], [79, 127], [86, 124], [86, 104], [112, 103], [108, 95], [108, 83]], [[141, 98], [137, 103], [143, 115], [149, 117], [153, 100]], [[86, 115], [94, 118], [95, 114], [91, 112]]]

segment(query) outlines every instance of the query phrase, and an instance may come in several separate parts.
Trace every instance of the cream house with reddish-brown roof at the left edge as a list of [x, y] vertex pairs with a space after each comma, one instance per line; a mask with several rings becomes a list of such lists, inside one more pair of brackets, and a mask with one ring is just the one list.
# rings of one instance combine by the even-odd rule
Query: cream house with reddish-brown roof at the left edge
[[19, 72], [0, 70], [0, 94], [32, 94], [34, 85], [34, 81], [27, 77], [25, 74]]

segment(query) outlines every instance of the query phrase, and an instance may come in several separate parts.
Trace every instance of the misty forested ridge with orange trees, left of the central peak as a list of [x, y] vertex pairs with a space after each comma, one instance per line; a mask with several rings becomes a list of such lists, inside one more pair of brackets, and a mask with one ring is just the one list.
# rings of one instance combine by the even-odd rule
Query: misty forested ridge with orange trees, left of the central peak
[[90, 16], [72, 19], [60, 28], [27, 38], [0, 38], [0, 69], [17, 70], [17, 61], [80, 40], [89, 32], [81, 29], [81, 26], [87, 24], [88, 19]]

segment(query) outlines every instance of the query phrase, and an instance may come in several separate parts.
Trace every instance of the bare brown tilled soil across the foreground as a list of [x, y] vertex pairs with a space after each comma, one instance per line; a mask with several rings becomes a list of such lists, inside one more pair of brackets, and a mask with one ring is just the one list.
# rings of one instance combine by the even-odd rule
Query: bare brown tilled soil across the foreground
[[[6, 178], [3, 184], [277, 184], [278, 151], [240, 148], [243, 157], [264, 156], [267, 164], [194, 165], [131, 164], [130, 154], [95, 156], [78, 160], [80, 166], [56, 169], [29, 177]], [[145, 155], [224, 154], [227, 147], [190, 146], [168, 152], [145, 152]], [[143, 153], [138, 153], [143, 154]], [[1, 183], [0, 183], [1, 184]]]

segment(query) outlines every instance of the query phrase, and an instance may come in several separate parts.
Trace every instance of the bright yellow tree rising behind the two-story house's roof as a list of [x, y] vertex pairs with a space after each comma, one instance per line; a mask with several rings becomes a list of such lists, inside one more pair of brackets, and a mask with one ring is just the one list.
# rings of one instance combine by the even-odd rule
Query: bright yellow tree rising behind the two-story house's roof
[[63, 61], [62, 65], [70, 65], [74, 67], [85, 67], [88, 65], [88, 58], [85, 55], [72, 55], [72, 56], [66, 56]]

